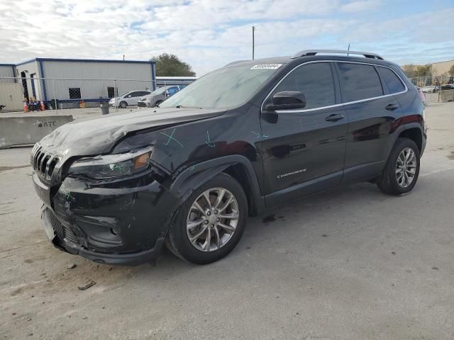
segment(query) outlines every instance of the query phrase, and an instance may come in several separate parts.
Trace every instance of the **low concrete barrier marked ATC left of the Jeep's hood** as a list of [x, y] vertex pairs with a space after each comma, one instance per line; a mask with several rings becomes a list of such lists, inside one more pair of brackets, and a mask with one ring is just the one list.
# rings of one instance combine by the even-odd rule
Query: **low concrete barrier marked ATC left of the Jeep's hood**
[[0, 115], [0, 149], [35, 144], [69, 122], [72, 115]]

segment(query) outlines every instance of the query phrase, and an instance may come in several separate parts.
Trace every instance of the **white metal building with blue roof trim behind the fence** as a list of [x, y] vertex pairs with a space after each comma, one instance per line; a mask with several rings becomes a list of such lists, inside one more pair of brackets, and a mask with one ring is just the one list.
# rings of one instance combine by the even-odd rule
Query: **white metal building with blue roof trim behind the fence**
[[[35, 58], [15, 65], [25, 98], [98, 103], [127, 91], [156, 88], [155, 62]], [[1, 77], [1, 76], [0, 76]]]

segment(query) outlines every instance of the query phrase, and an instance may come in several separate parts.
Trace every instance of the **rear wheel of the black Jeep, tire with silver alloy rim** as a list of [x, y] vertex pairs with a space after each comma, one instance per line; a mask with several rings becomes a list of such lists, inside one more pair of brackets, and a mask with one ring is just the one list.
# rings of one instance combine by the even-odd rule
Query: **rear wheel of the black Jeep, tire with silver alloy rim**
[[[409, 159], [406, 159], [407, 155]], [[413, 140], [398, 138], [377, 181], [378, 188], [394, 196], [409, 193], [418, 181], [419, 157], [419, 149]]]

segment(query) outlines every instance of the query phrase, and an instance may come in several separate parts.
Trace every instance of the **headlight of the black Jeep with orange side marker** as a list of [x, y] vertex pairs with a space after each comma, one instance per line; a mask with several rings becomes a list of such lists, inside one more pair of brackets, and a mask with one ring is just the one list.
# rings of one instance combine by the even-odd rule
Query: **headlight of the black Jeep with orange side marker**
[[111, 179], [145, 170], [150, 164], [153, 148], [139, 149], [125, 154], [78, 159], [70, 166], [70, 175], [82, 175], [92, 179]]

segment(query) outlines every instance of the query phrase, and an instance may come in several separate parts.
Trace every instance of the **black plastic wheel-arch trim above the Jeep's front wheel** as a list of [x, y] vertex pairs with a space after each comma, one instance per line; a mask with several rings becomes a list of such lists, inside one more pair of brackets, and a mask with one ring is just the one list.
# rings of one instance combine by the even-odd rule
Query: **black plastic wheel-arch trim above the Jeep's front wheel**
[[265, 210], [265, 198], [260, 195], [257, 176], [249, 160], [241, 155], [229, 155], [187, 166], [170, 186], [170, 192], [181, 202], [191, 195], [194, 188], [220, 173], [232, 176], [243, 187], [248, 198], [250, 215]]

